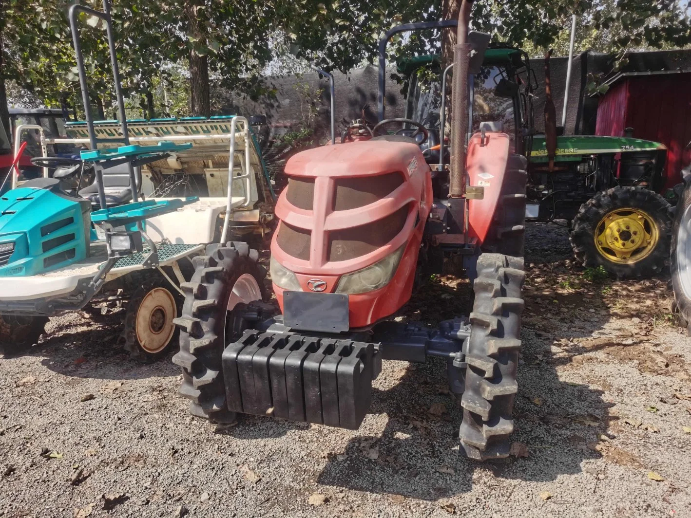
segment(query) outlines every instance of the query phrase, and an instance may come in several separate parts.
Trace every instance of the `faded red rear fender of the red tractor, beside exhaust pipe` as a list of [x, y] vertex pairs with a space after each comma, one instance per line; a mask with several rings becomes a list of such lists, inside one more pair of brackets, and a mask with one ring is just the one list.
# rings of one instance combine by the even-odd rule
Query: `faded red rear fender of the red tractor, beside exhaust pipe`
[[510, 138], [506, 133], [475, 133], [468, 143], [468, 186], [484, 188], [482, 200], [468, 200], [468, 236], [478, 244], [489, 237], [502, 195], [509, 161]]

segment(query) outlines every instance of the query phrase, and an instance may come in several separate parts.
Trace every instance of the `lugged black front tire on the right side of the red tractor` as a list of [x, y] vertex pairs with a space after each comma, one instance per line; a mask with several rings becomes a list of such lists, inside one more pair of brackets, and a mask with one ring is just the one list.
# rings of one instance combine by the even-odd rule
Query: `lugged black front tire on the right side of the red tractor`
[[461, 399], [461, 451], [484, 461], [509, 455], [524, 302], [523, 259], [483, 253], [473, 282], [475, 301]]

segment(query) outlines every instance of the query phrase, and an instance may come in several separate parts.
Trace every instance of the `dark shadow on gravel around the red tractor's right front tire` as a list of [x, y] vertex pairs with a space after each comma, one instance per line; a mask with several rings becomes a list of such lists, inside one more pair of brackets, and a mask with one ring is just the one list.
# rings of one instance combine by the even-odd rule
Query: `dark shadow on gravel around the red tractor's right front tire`
[[[569, 345], [571, 340], [602, 329], [609, 311], [596, 293], [585, 298], [547, 289], [554, 284], [553, 276], [569, 271], [568, 233], [553, 225], [531, 230], [526, 262], [532, 266], [526, 272], [519, 392], [511, 436], [527, 445], [527, 457], [486, 463], [462, 457], [457, 439], [460, 399], [448, 394], [444, 362], [387, 362], [386, 369], [399, 367], [402, 376], [395, 386], [374, 394], [370, 413], [388, 416], [384, 432], [352, 439], [341, 455], [330, 459], [319, 483], [437, 500], [470, 491], [473, 480], [482, 479], [490, 486], [488, 479], [495, 479], [497, 486], [511, 479], [553, 481], [561, 474], [581, 472], [583, 461], [600, 457], [594, 444], [607, 430], [609, 419], [616, 419], [609, 417], [612, 405], [603, 401], [602, 390], [560, 381], [556, 367], [568, 371], [568, 364], [583, 352], [576, 344]], [[442, 279], [431, 288], [431, 292], [421, 289], [421, 294], [429, 295], [415, 300], [412, 311], [408, 307], [411, 319], [431, 323], [440, 315], [448, 318], [450, 313], [467, 311], [468, 282], [454, 285]], [[440, 405], [445, 411], [439, 415]], [[504, 491], [511, 492], [511, 485], [504, 485]]]

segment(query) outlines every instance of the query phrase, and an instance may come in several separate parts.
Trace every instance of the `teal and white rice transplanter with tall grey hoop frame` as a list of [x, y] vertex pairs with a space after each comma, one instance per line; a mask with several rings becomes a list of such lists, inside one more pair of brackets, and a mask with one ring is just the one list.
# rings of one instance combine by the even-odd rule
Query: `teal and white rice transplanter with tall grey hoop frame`
[[[91, 104], [77, 28], [81, 13], [105, 22], [120, 140], [113, 147], [112, 137], [107, 143], [99, 138], [86, 110], [89, 148], [80, 158], [32, 159], [52, 169], [53, 178], [28, 180], [0, 196], [0, 347], [5, 354], [17, 354], [37, 342], [48, 317], [93, 310], [93, 301], [100, 297], [117, 300], [118, 307], [126, 309], [124, 349], [148, 362], [163, 356], [176, 341], [173, 320], [180, 314], [191, 260], [216, 239], [221, 215], [247, 205], [256, 185], [249, 159], [241, 175], [235, 174], [230, 160], [227, 202], [205, 202], [196, 196], [143, 200], [142, 166], [187, 152], [192, 144], [181, 143], [180, 137], [155, 146], [130, 142], [108, 0], [103, 12], [78, 4], [69, 11], [84, 106]], [[235, 157], [236, 126], [241, 126], [247, 149], [249, 123], [232, 117], [228, 124], [229, 156]], [[84, 186], [84, 178], [93, 181]], [[246, 182], [245, 198], [233, 197], [234, 182]], [[222, 224], [224, 237], [230, 219]]]

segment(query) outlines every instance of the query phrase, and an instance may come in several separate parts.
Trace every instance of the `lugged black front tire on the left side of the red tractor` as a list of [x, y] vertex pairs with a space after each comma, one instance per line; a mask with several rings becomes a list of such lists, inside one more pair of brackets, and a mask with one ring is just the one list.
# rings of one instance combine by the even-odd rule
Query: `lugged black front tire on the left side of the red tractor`
[[190, 413], [213, 423], [232, 423], [236, 414], [226, 405], [221, 356], [227, 345], [228, 301], [243, 274], [256, 280], [262, 300], [267, 300], [266, 271], [258, 253], [244, 242], [209, 244], [205, 255], [193, 259], [195, 272], [185, 291], [180, 327], [180, 352], [173, 363], [182, 367], [180, 394], [191, 400]]

